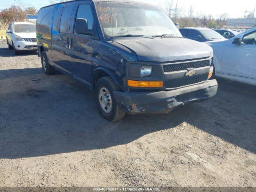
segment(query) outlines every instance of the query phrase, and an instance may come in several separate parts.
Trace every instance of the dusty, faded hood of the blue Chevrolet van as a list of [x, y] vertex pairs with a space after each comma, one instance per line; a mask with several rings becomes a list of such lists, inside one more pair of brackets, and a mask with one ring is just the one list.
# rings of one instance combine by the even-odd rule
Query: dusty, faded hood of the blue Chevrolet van
[[190, 39], [136, 38], [127, 38], [126, 40], [115, 39], [115, 42], [134, 51], [139, 61], [170, 62], [204, 58], [213, 55], [210, 46]]

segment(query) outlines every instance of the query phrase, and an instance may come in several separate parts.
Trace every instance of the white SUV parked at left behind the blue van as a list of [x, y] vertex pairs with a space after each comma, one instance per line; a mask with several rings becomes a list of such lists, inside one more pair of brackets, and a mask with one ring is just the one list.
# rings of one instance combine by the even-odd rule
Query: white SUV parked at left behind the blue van
[[29, 22], [12, 22], [6, 30], [6, 40], [14, 54], [24, 50], [37, 51], [36, 25]]

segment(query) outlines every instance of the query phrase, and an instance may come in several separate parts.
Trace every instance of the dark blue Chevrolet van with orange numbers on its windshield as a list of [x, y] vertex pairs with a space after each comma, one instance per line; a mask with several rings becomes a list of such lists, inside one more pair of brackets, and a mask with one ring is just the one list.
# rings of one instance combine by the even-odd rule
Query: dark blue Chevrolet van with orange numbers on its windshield
[[41, 8], [38, 56], [96, 93], [100, 114], [167, 113], [218, 89], [210, 46], [185, 39], [157, 6], [76, 0]]

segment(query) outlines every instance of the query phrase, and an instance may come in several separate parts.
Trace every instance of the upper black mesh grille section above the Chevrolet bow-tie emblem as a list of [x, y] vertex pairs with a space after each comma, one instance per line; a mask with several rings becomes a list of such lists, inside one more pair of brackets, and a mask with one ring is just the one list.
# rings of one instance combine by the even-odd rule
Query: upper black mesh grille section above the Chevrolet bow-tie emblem
[[201, 68], [201, 67], [207, 67], [210, 66], [210, 60], [204, 60], [204, 61], [195, 61], [195, 62], [189, 62], [189, 63], [179, 63], [179, 64], [169, 64], [164, 65], [164, 72], [175, 72], [175, 71], [183, 71], [187, 70], [189, 68]]

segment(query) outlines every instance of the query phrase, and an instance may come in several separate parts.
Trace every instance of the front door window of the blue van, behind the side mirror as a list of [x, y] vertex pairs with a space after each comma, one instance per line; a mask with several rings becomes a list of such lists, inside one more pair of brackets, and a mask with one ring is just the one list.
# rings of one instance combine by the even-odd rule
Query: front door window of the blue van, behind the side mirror
[[93, 19], [93, 14], [92, 14], [91, 7], [89, 5], [80, 5], [78, 7], [78, 11], [77, 11], [77, 14], [76, 14], [76, 20], [77, 19], [85, 19], [87, 21], [87, 24], [88, 24], [87, 30], [92, 30], [94, 19]]

